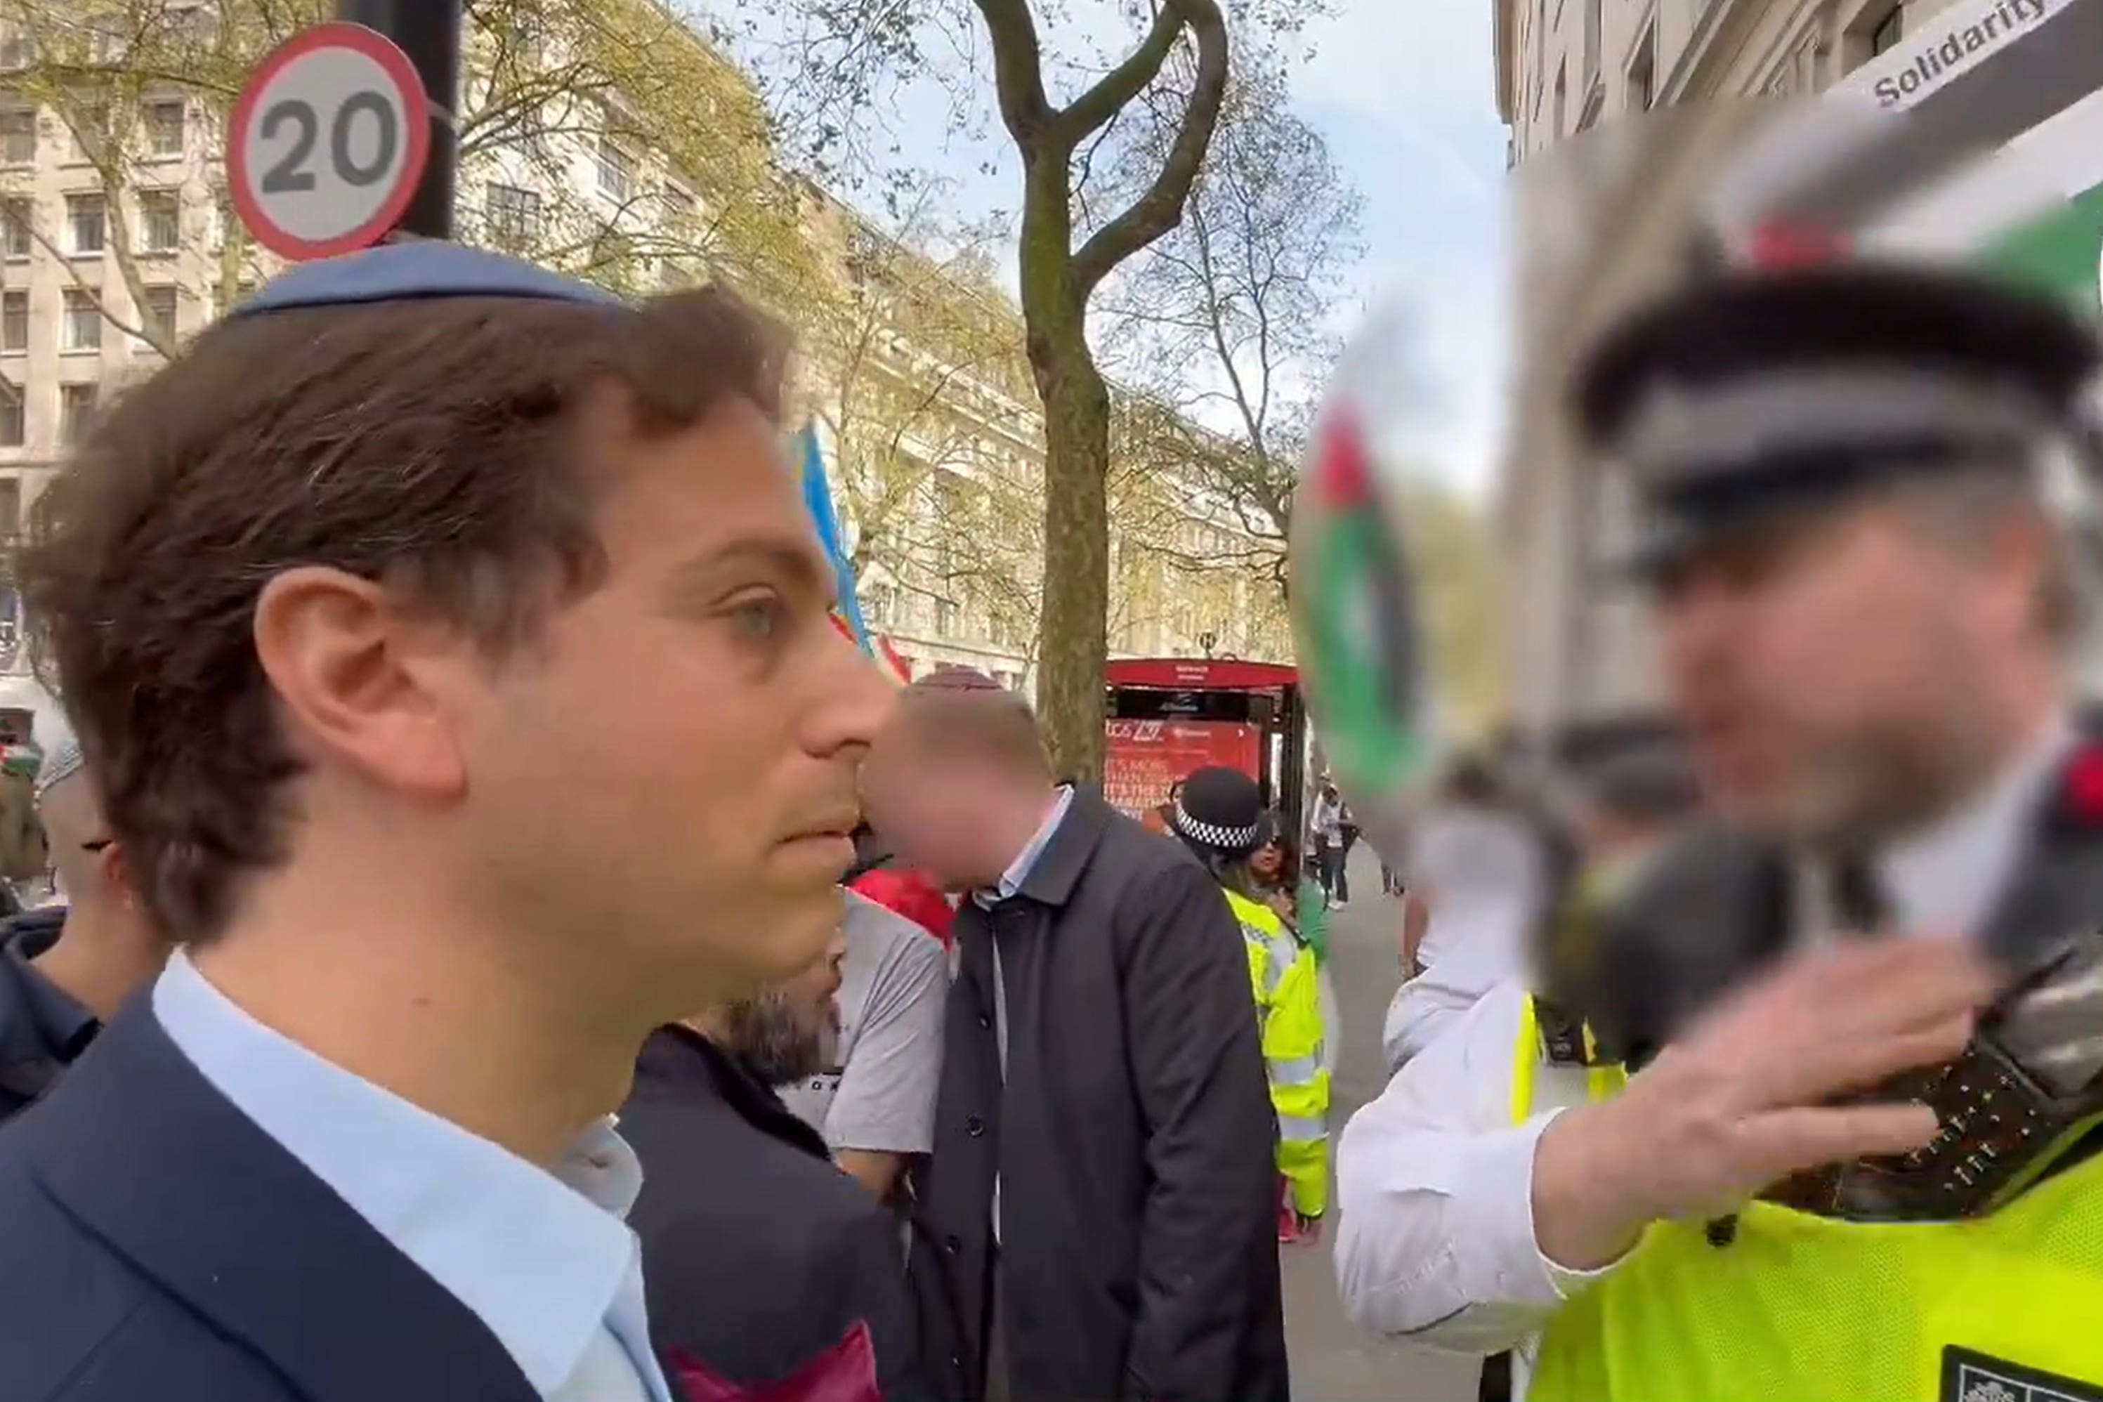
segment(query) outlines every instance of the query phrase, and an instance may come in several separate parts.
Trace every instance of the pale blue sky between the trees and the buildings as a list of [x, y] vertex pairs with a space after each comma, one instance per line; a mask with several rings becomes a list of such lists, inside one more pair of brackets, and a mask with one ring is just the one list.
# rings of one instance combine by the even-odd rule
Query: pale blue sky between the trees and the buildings
[[[1504, 151], [1495, 111], [1493, 0], [1331, 0], [1333, 15], [1300, 36], [1312, 57], [1293, 74], [1300, 118], [1314, 126], [1365, 200], [1365, 259], [1338, 307], [1338, 328], [1386, 311], [1403, 328], [1409, 420], [1382, 435], [1411, 467], [1485, 498], [1495, 477], [1504, 383]], [[702, 8], [736, 8], [713, 0]], [[959, 6], [967, 13], [967, 6]], [[1045, 23], [1056, 55], [1123, 53], [1131, 29], [1115, 0], [1062, 0]], [[1052, 15], [1052, 6], [1039, 6]], [[942, 179], [965, 219], [1012, 214], [1020, 162], [991, 118], [993, 95], [976, 21], [957, 42], [925, 42], [927, 76], [883, 95], [890, 130], [911, 162]], [[1052, 78], [1054, 101], [1079, 82]], [[959, 126], [957, 95], [978, 120]], [[850, 193], [852, 198], [852, 193]], [[1014, 288], [1012, 250], [1003, 275]]]

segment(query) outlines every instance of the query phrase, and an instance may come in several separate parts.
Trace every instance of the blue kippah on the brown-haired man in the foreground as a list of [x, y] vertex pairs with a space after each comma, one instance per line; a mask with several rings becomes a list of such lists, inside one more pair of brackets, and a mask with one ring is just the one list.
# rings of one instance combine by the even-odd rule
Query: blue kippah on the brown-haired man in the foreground
[[301, 263], [265, 282], [248, 301], [233, 307], [227, 319], [299, 307], [358, 307], [433, 296], [519, 296], [591, 307], [627, 305], [606, 288], [551, 273], [522, 259], [465, 244], [416, 240]]

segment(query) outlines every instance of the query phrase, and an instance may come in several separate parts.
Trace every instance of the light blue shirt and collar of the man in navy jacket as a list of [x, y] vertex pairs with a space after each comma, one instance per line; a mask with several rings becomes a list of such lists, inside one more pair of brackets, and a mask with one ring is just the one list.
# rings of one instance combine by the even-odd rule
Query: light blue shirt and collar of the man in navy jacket
[[[154, 1013], [221, 1095], [452, 1291], [540, 1396], [578, 1370], [616, 1297], [639, 1303], [622, 1217], [641, 1167], [612, 1120], [549, 1173], [265, 1028], [181, 952], [154, 984]], [[648, 1358], [648, 1339], [622, 1345]]]

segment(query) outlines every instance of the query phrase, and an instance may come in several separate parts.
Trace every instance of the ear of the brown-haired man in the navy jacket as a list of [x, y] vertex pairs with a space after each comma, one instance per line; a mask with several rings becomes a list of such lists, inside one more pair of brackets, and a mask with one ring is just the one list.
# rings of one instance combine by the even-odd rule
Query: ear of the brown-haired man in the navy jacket
[[433, 685], [463, 639], [416, 622], [372, 580], [305, 565], [257, 597], [254, 647], [294, 750], [427, 801], [465, 792], [452, 717]]

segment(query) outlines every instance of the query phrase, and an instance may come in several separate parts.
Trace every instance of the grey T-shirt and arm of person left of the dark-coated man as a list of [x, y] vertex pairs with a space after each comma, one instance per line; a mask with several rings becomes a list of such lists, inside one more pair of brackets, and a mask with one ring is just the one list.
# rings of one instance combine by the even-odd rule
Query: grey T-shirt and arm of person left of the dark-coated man
[[782, 1099], [824, 1135], [835, 1160], [890, 1202], [934, 1148], [948, 956], [913, 921], [848, 891], [839, 1019], [818, 1066]]

